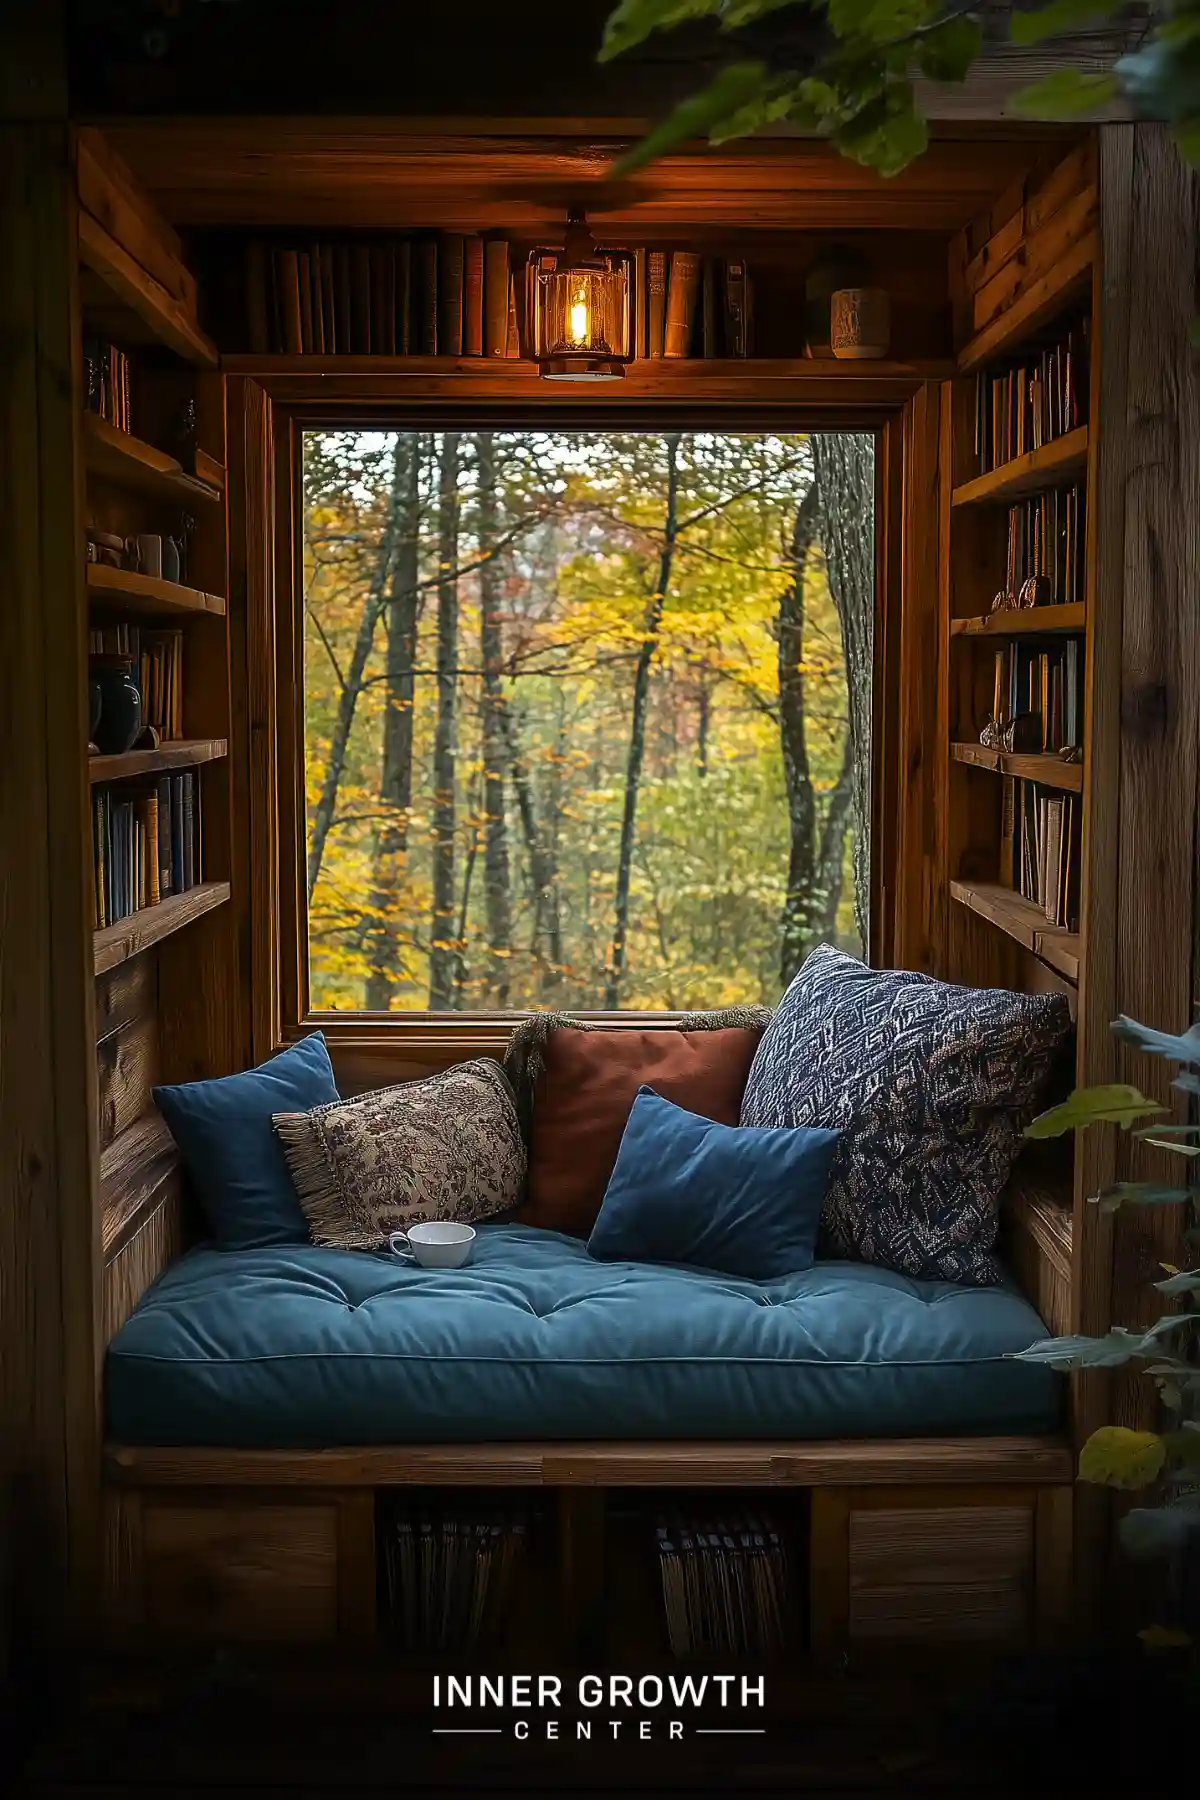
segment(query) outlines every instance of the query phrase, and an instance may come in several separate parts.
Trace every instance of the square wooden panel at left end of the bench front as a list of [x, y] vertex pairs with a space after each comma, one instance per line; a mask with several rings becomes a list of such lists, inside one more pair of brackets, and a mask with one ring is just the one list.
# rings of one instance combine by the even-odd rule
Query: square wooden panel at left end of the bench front
[[338, 1510], [144, 1501], [146, 1624], [173, 1642], [331, 1638]]

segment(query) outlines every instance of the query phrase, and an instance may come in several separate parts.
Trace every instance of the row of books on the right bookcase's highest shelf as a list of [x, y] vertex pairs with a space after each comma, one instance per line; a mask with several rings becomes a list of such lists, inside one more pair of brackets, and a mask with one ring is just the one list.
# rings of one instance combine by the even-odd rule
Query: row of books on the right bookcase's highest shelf
[[975, 376], [975, 457], [986, 475], [1087, 423], [1088, 324], [1002, 373]]

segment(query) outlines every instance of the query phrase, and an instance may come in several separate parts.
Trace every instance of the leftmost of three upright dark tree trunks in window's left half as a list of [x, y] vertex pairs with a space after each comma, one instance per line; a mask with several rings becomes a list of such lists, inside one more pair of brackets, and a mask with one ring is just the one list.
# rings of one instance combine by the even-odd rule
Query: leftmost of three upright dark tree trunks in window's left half
[[421, 551], [421, 437], [401, 436], [405, 466], [401, 517], [392, 562], [392, 592], [387, 603], [387, 698], [383, 707], [383, 763], [380, 810], [385, 814], [374, 841], [371, 884], [371, 972], [367, 1012], [389, 1012], [399, 974], [398, 909], [408, 857], [412, 812], [412, 709], [417, 652], [417, 581]]

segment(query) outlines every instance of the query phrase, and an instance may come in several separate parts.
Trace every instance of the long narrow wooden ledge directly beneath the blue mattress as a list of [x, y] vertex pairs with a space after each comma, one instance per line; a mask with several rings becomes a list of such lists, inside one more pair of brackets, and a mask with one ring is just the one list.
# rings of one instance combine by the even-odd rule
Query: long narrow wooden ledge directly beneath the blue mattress
[[1070, 1481], [1058, 1438], [833, 1444], [408, 1444], [327, 1451], [110, 1445], [110, 1480], [144, 1487], [820, 1487]]

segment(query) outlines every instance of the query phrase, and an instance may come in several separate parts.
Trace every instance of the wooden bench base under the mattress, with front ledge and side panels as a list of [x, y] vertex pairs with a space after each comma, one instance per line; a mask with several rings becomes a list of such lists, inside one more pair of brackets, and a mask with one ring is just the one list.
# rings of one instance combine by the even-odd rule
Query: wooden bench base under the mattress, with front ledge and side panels
[[889, 1643], [1049, 1645], [1069, 1624], [1072, 1471], [1052, 1438], [113, 1445], [106, 1467], [106, 1616], [122, 1642], [369, 1642], [376, 1490], [405, 1487], [554, 1490], [549, 1658], [596, 1642], [606, 1489], [799, 1496], [808, 1638], [822, 1656]]

